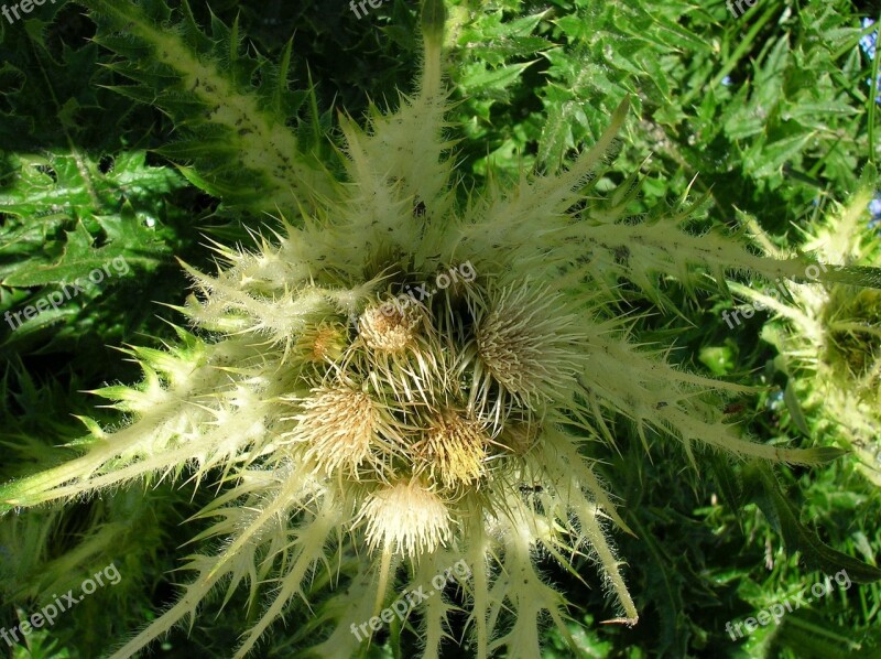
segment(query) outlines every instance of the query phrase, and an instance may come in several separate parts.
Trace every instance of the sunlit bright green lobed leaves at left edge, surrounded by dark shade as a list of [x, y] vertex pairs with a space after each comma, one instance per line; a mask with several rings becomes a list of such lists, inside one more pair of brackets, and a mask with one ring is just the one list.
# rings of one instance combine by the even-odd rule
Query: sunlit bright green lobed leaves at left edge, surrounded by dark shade
[[120, 154], [107, 173], [78, 153], [8, 162], [0, 284], [70, 283], [112, 259], [141, 271], [168, 259], [164, 198], [186, 181], [167, 168], [148, 166], [144, 152]]

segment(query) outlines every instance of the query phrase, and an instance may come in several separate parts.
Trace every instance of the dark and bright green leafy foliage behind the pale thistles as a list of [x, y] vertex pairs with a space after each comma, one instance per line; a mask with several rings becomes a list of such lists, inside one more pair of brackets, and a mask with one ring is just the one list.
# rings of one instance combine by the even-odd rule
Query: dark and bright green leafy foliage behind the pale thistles
[[[128, 1], [107, 4], [124, 9]], [[449, 6], [448, 75], [459, 101], [453, 120], [464, 136], [458, 171], [475, 185], [489, 162], [512, 176], [558, 166], [592, 143], [629, 94], [634, 109], [601, 187], [641, 169], [634, 214], [706, 194], [699, 226], [732, 227], [739, 215], [752, 216], [777, 245], [797, 247], [798, 227], [847, 202], [878, 159], [878, 109], [866, 82], [873, 63], [858, 47], [871, 31], [860, 19], [877, 18], [877, 7], [759, 0], [736, 19], [717, 1]], [[261, 87], [301, 148], [325, 166], [334, 166], [323, 136], [335, 133], [336, 111], [360, 119], [371, 98], [396, 102], [417, 62], [412, 2], [390, 0], [360, 19], [348, 3], [317, 0], [194, 0], [192, 11], [209, 34], [193, 32], [194, 47], [219, 53], [241, 39], [224, 55], [230, 71], [242, 87]], [[47, 3], [13, 24], [0, 20], [0, 315], [113, 258], [131, 267], [18, 330], [0, 324], [7, 480], [63, 460], [59, 446], [83, 434], [75, 415], [96, 415], [88, 390], [137, 377], [115, 347], [174, 338], [165, 321], [178, 320], [172, 306], [186, 288], [176, 258], [210, 267], [208, 239], [248, 244], [249, 229], [275, 219], [259, 208], [231, 143], [197, 119], [175, 80], [138, 64], [134, 41], [96, 33], [73, 1]], [[165, 95], [156, 91], [163, 85]], [[760, 339], [766, 314], [732, 331], [720, 316], [729, 299], [664, 287], [677, 313], [642, 321], [642, 337], [675, 345], [692, 368], [766, 386], [730, 413], [761, 440], [808, 445], [815, 420], [786, 393], [787, 375]], [[881, 551], [879, 490], [852, 461], [772, 473], [716, 458], [698, 474], [682, 469], [675, 449], [652, 445], [646, 456], [628, 430], [622, 421], [618, 453], [597, 456], [606, 479], [626, 493], [624, 520], [639, 537], [618, 541], [642, 619], [633, 629], [600, 625], [613, 611], [590, 566], [578, 583], [547, 561], [548, 577], [568, 584], [577, 642], [567, 648], [552, 634], [548, 657], [881, 656], [877, 583], [834, 592], [748, 639], [732, 642], [725, 631], [726, 622], [755, 615], [824, 573], [847, 568], [855, 579], [860, 570], [877, 579], [869, 566]], [[150, 619], [174, 593], [170, 571], [188, 538], [181, 522], [211, 495], [155, 483], [0, 520], [0, 626], [12, 627], [110, 561], [123, 577], [13, 656], [97, 656]], [[206, 611], [157, 655], [225, 656], [248, 615], [237, 605]], [[286, 628], [276, 625], [261, 652], [285, 656], [306, 619], [300, 612]], [[394, 640], [374, 653], [413, 650], [406, 634]]]

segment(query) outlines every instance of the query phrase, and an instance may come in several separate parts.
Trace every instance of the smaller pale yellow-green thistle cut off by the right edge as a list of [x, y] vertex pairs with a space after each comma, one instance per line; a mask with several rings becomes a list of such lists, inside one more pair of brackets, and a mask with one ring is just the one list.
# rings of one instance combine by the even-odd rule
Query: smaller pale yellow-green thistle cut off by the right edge
[[[804, 249], [839, 267], [872, 267], [881, 238], [869, 222], [877, 173], [868, 168], [846, 205], [834, 205], [805, 231]], [[766, 236], [768, 253], [783, 257]], [[858, 468], [881, 486], [881, 294], [847, 283], [790, 283], [788, 294], [736, 285], [775, 316], [763, 337], [785, 361], [798, 399], [820, 436], [853, 451]]]

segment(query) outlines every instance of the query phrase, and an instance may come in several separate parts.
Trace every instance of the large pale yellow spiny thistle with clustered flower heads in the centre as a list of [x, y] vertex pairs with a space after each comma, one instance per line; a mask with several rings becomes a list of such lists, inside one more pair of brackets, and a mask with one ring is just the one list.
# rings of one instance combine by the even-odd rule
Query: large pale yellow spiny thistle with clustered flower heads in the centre
[[[725, 397], [750, 387], [689, 372], [668, 346], [631, 335], [629, 304], [670, 311], [662, 280], [696, 294], [735, 273], [804, 279], [814, 261], [757, 256], [720, 230], [697, 235], [687, 199], [633, 217], [635, 174], [601, 197], [627, 100], [561, 171], [464, 191], [446, 119], [445, 11], [431, 0], [415, 91], [394, 110], [371, 107], [363, 127], [340, 118], [336, 177], [255, 91], [230, 82], [241, 79], [236, 48], [211, 55], [186, 6], [181, 25], [160, 30], [161, 2], [84, 4], [117, 25], [101, 43], [155, 60], [120, 73], [154, 84], [174, 72], [156, 102], [186, 93], [207, 108], [183, 122], [202, 150], [168, 150], [191, 161], [191, 181], [233, 209], [281, 215], [254, 248], [215, 244], [217, 272], [184, 266], [195, 292], [178, 310], [189, 327], [164, 349], [126, 348], [143, 380], [95, 392], [127, 424], [110, 432], [85, 419], [81, 456], [0, 489], [11, 511], [164, 479], [218, 484], [196, 516], [206, 526], [186, 563], [193, 577], [116, 657], [192, 624], [211, 593], [228, 599], [244, 586], [262, 608], [237, 657], [302, 602], [314, 606], [307, 629], [322, 631], [306, 649], [349, 657], [369, 642], [354, 630], [393, 587], [433, 588], [460, 560], [469, 574], [458, 588], [409, 614], [424, 656], [438, 656], [450, 612], [464, 607], [477, 657], [539, 657], [543, 620], [565, 634], [567, 615], [540, 559], [575, 573], [589, 557], [617, 603], [613, 622], [638, 620], [610, 539], [627, 525], [589, 457], [595, 443], [616, 444], [617, 420], [646, 445], [678, 442], [686, 465], [703, 450], [790, 464], [839, 453], [752, 441], [724, 418]], [[285, 88], [284, 66], [273, 71]], [[202, 159], [205, 143], [227, 137], [238, 160]], [[265, 175], [248, 187], [238, 165]], [[830, 267], [822, 279], [858, 277]]]

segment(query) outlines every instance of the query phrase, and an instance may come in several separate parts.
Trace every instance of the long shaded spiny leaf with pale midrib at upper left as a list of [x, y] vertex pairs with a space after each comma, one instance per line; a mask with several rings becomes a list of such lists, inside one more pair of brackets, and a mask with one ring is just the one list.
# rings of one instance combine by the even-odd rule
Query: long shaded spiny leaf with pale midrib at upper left
[[289, 58], [279, 67], [240, 53], [237, 24], [230, 29], [216, 18], [207, 36], [186, 2], [174, 29], [164, 0], [81, 3], [98, 24], [96, 41], [123, 57], [112, 69], [134, 83], [113, 88], [162, 108], [182, 129], [183, 143], [166, 154], [192, 166], [194, 184], [229, 206], [289, 217], [300, 215], [298, 203], [308, 196], [298, 191], [328, 193], [333, 179], [325, 165], [303, 153], [287, 128], [304, 99], [282, 77]]

